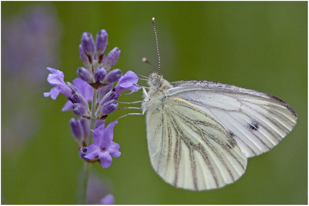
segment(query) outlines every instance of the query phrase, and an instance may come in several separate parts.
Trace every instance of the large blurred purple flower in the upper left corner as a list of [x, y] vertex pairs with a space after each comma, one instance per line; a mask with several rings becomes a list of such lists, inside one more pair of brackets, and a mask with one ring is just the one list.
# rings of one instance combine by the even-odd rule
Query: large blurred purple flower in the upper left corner
[[61, 28], [51, 4], [23, 8], [22, 14], [1, 23], [2, 72], [22, 76], [37, 87], [44, 82], [44, 68], [57, 66]]

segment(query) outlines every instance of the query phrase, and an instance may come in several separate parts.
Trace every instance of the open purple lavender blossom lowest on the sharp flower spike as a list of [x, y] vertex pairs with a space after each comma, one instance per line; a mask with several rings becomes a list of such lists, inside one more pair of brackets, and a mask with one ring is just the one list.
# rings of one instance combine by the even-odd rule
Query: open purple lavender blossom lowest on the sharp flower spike
[[114, 126], [118, 122], [111, 122], [106, 128], [104, 124], [91, 130], [93, 132], [94, 144], [88, 147], [85, 158], [93, 159], [99, 157], [103, 168], [107, 168], [112, 164], [112, 156], [119, 157], [119, 144], [112, 141]]

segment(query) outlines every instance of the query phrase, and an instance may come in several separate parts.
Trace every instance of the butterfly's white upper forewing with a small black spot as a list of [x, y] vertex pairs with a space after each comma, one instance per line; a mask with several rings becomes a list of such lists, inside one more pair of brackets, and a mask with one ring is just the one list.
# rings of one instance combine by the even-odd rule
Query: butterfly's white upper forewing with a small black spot
[[213, 81], [170, 83], [168, 97], [184, 99], [218, 121], [251, 157], [277, 145], [295, 126], [297, 115], [270, 94]]

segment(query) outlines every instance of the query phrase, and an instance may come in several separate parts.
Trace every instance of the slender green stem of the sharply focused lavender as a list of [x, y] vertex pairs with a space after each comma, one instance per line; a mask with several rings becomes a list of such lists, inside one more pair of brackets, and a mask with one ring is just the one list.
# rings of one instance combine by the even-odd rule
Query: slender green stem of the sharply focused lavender
[[[96, 107], [96, 96], [97, 96], [97, 90], [93, 89], [93, 99], [92, 99], [92, 105], [91, 105], [91, 124], [90, 128], [92, 130], [95, 129], [95, 107]], [[91, 145], [93, 143], [93, 133], [90, 133], [90, 138], [87, 142], [87, 146]], [[82, 172], [82, 177], [80, 179], [81, 183], [79, 185], [79, 202], [78, 204], [86, 204], [87, 201], [87, 186], [88, 186], [88, 179], [89, 179], [89, 172], [90, 172], [90, 163], [85, 162]]]

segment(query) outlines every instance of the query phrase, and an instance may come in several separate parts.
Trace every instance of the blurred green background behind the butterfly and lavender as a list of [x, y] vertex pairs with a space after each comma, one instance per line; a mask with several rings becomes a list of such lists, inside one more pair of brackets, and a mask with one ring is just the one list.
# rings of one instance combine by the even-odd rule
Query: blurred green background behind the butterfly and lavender
[[[41, 62], [37, 71], [31, 69], [42, 60], [40, 55], [29, 57], [34, 58], [31, 63], [18, 60], [51, 46], [26, 47], [27, 52], [17, 56], [1, 48], [2, 204], [77, 203], [83, 161], [70, 131], [75, 115], [61, 112], [67, 101], [63, 95], [55, 101], [43, 96], [51, 88], [46, 67], [63, 71], [65, 81], [72, 81], [83, 66], [78, 51], [82, 33], [95, 36], [104, 28], [108, 51], [121, 49], [113, 68], [148, 76], [152, 68], [142, 57], [158, 63], [152, 17], [165, 79], [213, 80], [270, 93], [295, 110], [298, 123], [272, 150], [249, 158], [246, 172], [235, 183], [193, 192], [172, 187], [152, 169], [145, 116], [122, 118], [114, 131], [121, 156], [107, 169], [99, 163], [92, 168], [109, 182], [107, 191], [115, 196], [115, 204], [308, 204], [307, 2], [1, 2], [2, 44], [5, 35], [11, 36], [3, 29], [5, 22], [26, 19], [33, 6], [43, 7], [54, 19], [44, 38], [54, 39], [49, 45], [55, 48], [52, 60]], [[30, 39], [20, 30], [13, 33], [22, 41]], [[19, 46], [15, 50], [20, 51]], [[11, 55], [9, 63], [5, 52]], [[10, 62], [18, 68], [10, 68]], [[138, 91], [119, 101], [142, 100], [141, 95]], [[116, 111], [107, 121], [128, 112], [137, 111]]]

